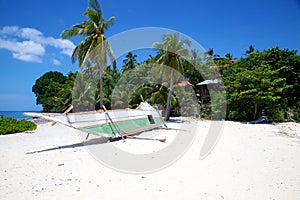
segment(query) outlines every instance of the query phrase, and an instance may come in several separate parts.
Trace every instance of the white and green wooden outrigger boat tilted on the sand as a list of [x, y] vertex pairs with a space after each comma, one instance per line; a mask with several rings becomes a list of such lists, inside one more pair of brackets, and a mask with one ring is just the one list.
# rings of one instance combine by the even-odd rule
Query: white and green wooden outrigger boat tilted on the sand
[[[164, 123], [160, 111], [153, 108], [146, 102], [136, 109], [118, 109], [107, 111], [88, 111], [68, 113], [71, 106], [64, 113], [34, 113], [25, 112], [24, 116], [39, 117], [55, 123], [60, 123], [75, 129], [79, 129], [89, 134], [104, 136], [109, 139], [115, 138], [137, 138], [133, 135], [150, 131], [153, 129], [167, 127]], [[148, 138], [137, 138], [148, 139]], [[165, 139], [157, 139], [164, 142]]]

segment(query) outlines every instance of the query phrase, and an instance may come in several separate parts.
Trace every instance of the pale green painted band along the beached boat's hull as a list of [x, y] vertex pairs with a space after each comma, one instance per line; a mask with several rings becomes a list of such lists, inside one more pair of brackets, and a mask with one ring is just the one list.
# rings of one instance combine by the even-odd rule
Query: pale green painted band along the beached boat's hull
[[[161, 124], [162, 121], [160, 118], [153, 118], [155, 124]], [[141, 127], [147, 127], [150, 125], [150, 122], [148, 118], [142, 118], [142, 119], [133, 119], [133, 120], [126, 120], [126, 121], [119, 121], [114, 122], [114, 124], [117, 126], [118, 130], [121, 132], [129, 132], [131, 130], [141, 128]], [[94, 135], [107, 135], [107, 136], [114, 136], [113, 132], [115, 134], [118, 133], [118, 131], [115, 129], [113, 124], [102, 124], [98, 126], [92, 126], [88, 128], [81, 128], [82, 131], [88, 132], [90, 134]]]

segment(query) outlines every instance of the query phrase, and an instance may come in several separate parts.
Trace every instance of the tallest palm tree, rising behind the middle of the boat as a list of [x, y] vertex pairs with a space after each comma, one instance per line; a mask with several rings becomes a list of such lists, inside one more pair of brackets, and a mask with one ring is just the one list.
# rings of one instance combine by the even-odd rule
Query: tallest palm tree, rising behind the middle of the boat
[[[113, 24], [115, 17], [112, 16], [108, 20], [104, 20], [98, 0], [89, 0], [89, 5], [90, 8], [84, 13], [84, 15], [88, 17], [88, 20], [65, 30], [62, 34], [62, 38], [67, 39], [76, 36], [84, 37], [73, 51], [72, 62], [75, 63], [77, 60], [79, 68], [83, 71], [85, 69], [90, 70], [90, 68], [88, 67], [87, 69], [86, 66], [90, 66], [91, 62], [97, 68], [100, 84], [100, 108], [102, 108], [103, 72], [105, 67], [107, 67], [107, 57], [113, 62], [115, 60], [111, 46], [104, 37], [104, 33]], [[92, 54], [97, 54], [97, 56], [92, 56]]]

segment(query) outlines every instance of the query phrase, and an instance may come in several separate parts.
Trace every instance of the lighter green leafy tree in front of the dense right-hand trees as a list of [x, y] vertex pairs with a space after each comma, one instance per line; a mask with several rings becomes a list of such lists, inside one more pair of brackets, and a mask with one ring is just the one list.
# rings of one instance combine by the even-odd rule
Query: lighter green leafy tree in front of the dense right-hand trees
[[272, 121], [284, 119], [281, 100], [287, 89], [286, 79], [278, 78], [280, 70], [268, 66], [247, 69], [234, 65], [224, 77], [228, 93], [230, 120], [255, 120], [267, 115]]

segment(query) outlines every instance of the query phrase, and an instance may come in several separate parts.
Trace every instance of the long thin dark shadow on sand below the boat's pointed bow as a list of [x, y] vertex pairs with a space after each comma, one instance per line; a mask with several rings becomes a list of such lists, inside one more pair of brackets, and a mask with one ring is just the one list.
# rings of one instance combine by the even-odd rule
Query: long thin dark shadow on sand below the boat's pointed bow
[[98, 137], [98, 138], [89, 139], [87, 141], [78, 142], [75, 144], [57, 146], [57, 147], [52, 147], [52, 148], [38, 150], [38, 151], [31, 151], [31, 152], [27, 152], [26, 154], [43, 153], [43, 152], [56, 151], [56, 150], [62, 150], [62, 149], [74, 149], [76, 147], [105, 144], [108, 142], [114, 142], [114, 141], [119, 141], [119, 140], [122, 140], [122, 138], [109, 139], [109, 138], [105, 138], [105, 137]]

